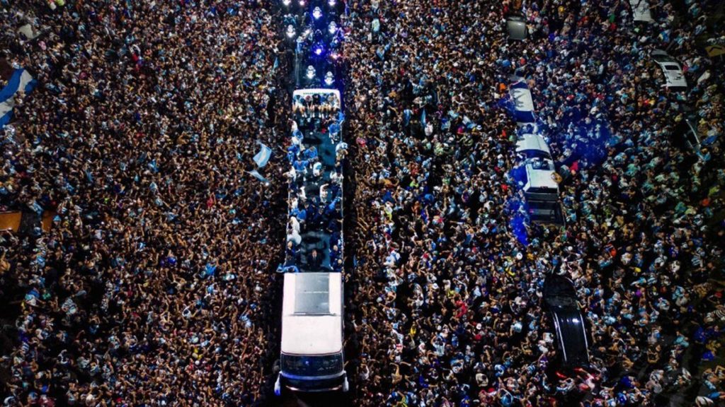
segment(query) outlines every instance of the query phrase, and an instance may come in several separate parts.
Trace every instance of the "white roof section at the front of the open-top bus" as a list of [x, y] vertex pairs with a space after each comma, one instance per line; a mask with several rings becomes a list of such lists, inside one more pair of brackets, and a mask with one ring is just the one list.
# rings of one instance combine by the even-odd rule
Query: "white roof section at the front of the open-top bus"
[[341, 273], [286, 273], [282, 353], [325, 355], [342, 351]]

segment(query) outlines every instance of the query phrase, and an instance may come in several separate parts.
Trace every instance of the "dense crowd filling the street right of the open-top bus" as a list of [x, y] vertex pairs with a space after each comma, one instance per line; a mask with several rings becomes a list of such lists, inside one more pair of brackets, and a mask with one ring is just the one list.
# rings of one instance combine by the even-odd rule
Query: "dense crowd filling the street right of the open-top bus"
[[[628, 1], [521, 3], [348, 4], [357, 405], [718, 402], [724, 84], [697, 45], [721, 32], [707, 20], [718, 2], [650, 2], [649, 26]], [[525, 41], [507, 38], [517, 11]], [[658, 48], [687, 91], [662, 86]], [[514, 222], [514, 73], [565, 169], [565, 227]], [[687, 107], [708, 138], [700, 156], [676, 141]], [[588, 369], [555, 372], [549, 273], [578, 290]]]

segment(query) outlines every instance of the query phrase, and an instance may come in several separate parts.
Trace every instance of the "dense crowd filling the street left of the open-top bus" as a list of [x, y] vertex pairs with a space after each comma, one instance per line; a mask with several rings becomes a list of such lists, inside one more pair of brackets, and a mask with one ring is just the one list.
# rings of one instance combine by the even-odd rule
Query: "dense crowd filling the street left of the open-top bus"
[[286, 129], [275, 8], [47, 3], [0, 1], [1, 56], [40, 83], [4, 129], [0, 205], [54, 214], [2, 235], [22, 299], [3, 405], [262, 400], [285, 188], [280, 161], [270, 185], [245, 171]]

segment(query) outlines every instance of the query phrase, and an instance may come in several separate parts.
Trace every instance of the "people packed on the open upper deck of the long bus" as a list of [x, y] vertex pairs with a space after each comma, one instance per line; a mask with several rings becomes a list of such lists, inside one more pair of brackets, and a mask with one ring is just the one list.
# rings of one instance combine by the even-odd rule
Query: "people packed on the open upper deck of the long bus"
[[342, 161], [347, 143], [341, 140], [340, 109], [334, 91], [293, 97], [283, 271], [343, 271]]

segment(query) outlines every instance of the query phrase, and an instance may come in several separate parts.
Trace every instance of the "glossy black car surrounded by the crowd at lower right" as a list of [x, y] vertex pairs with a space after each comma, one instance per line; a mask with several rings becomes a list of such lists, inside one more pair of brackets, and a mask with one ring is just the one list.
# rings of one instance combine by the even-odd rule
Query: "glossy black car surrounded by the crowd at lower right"
[[576, 303], [576, 290], [566, 277], [551, 274], [544, 281], [544, 307], [549, 312], [563, 366], [586, 367], [589, 341], [584, 317]]

